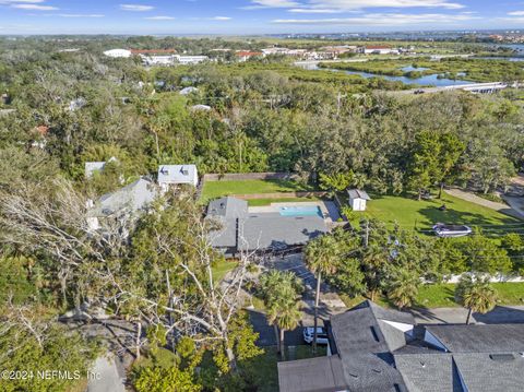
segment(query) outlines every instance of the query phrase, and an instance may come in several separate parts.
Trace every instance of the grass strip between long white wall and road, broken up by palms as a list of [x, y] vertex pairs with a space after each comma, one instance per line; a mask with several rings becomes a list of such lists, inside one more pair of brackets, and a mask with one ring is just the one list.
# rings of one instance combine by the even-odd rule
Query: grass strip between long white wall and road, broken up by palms
[[[493, 288], [498, 293], [498, 305], [524, 305], [524, 283], [493, 283]], [[458, 307], [454, 299], [455, 285], [452, 283], [442, 283], [434, 285], [420, 286], [416, 299], [416, 307], [421, 308], [450, 308]], [[342, 300], [347, 307], [354, 307], [365, 297], [349, 298], [341, 295]], [[376, 302], [383, 307], [392, 307], [388, 298], [376, 298]]]

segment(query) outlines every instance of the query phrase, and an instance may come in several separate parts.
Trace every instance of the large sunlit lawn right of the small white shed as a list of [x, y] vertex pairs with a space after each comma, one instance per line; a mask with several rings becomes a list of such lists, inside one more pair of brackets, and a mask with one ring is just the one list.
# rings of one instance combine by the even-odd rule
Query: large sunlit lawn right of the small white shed
[[[421, 200], [406, 197], [371, 195], [366, 212], [355, 212], [360, 218], [362, 215], [378, 218], [389, 225], [395, 222], [403, 228], [419, 230], [430, 229], [436, 223], [476, 225], [504, 225], [519, 221], [498, 211], [454, 198], [443, 195], [441, 200]], [[448, 210], [440, 211], [445, 204]]]

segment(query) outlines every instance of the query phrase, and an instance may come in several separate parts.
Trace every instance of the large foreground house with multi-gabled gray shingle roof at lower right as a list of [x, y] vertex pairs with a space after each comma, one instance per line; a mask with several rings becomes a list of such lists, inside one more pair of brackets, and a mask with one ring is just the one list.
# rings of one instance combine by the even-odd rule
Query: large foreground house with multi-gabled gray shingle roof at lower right
[[331, 317], [326, 357], [278, 363], [281, 392], [522, 391], [524, 324], [418, 325], [367, 300]]

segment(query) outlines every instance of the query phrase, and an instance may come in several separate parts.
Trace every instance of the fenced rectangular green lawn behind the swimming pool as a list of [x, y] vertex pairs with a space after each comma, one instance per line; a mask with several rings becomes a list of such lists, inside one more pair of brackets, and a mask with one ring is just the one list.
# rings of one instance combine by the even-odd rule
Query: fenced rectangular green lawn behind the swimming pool
[[279, 193], [311, 191], [310, 187], [289, 180], [240, 180], [240, 181], [205, 181], [202, 190], [202, 202], [229, 194]]

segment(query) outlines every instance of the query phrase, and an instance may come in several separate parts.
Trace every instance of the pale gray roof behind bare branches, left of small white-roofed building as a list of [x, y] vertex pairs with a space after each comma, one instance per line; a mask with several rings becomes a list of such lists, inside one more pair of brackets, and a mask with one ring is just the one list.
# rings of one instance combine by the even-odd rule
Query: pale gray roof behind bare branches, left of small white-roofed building
[[157, 195], [155, 183], [140, 178], [112, 193], [104, 194], [90, 215], [109, 216], [122, 211], [136, 212], [145, 209]]

